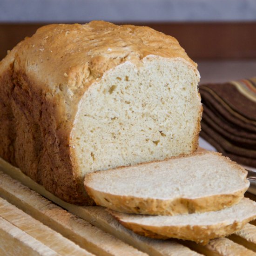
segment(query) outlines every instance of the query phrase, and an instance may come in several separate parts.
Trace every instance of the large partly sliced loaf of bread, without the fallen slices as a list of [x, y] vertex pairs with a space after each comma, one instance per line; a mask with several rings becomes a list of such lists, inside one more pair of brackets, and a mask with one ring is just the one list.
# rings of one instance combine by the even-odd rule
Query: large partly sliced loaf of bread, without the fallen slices
[[149, 27], [48, 25], [0, 62], [0, 157], [67, 202], [86, 174], [198, 146], [199, 73]]

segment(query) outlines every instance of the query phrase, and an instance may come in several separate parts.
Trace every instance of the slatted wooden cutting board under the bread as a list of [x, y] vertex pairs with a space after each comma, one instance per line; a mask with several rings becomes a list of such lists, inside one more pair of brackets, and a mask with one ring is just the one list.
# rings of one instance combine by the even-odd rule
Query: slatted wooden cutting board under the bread
[[255, 225], [205, 246], [138, 236], [104, 208], [64, 202], [0, 159], [0, 255], [250, 256]]

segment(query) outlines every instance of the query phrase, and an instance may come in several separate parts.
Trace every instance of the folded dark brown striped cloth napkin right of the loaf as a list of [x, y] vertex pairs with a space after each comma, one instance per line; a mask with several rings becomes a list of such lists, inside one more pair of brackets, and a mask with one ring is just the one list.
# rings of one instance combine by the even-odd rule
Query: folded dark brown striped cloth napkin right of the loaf
[[256, 167], [256, 77], [199, 87], [200, 136], [230, 159]]

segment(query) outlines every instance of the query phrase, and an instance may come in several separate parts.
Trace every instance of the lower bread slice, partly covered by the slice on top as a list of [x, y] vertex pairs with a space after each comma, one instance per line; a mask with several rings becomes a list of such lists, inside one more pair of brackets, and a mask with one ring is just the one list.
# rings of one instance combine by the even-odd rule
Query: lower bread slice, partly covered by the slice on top
[[135, 233], [158, 239], [179, 238], [206, 244], [230, 235], [256, 218], [256, 202], [243, 198], [229, 208], [177, 216], [125, 214], [108, 209], [123, 226]]

